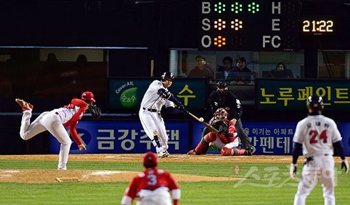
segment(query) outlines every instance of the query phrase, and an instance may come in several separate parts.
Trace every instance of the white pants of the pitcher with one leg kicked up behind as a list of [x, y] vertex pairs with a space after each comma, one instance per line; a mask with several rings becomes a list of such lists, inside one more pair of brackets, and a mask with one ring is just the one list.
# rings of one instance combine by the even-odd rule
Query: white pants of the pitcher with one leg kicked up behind
[[67, 130], [62, 125], [60, 117], [55, 112], [43, 112], [30, 123], [31, 117], [31, 110], [25, 110], [23, 112], [21, 130], [19, 132], [21, 138], [27, 141], [40, 132], [49, 131], [61, 143], [58, 170], [66, 170], [72, 141], [71, 138], [69, 138]]

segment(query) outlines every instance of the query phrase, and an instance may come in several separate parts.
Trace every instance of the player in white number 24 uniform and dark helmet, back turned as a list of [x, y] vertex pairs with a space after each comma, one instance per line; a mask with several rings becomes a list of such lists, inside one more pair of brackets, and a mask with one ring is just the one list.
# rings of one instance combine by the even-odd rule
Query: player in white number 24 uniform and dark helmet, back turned
[[349, 164], [344, 156], [342, 137], [333, 119], [321, 114], [323, 99], [319, 96], [310, 96], [307, 99], [309, 116], [299, 121], [293, 138], [293, 160], [290, 164], [290, 177], [296, 174], [296, 161], [299, 150], [303, 147], [305, 163], [301, 173], [298, 191], [294, 197], [294, 205], [305, 204], [309, 195], [320, 178], [323, 186], [325, 204], [336, 204], [334, 196], [334, 159], [333, 150], [337, 150], [342, 159], [341, 167], [345, 173], [349, 171]]

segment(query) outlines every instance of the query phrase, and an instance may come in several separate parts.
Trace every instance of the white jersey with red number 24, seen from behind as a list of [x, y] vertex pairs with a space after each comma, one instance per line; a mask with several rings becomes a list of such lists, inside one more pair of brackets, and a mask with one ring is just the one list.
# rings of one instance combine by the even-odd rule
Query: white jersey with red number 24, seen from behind
[[309, 115], [299, 121], [293, 137], [294, 143], [303, 144], [303, 155], [306, 157], [333, 155], [333, 143], [341, 140], [342, 136], [334, 120], [322, 114]]

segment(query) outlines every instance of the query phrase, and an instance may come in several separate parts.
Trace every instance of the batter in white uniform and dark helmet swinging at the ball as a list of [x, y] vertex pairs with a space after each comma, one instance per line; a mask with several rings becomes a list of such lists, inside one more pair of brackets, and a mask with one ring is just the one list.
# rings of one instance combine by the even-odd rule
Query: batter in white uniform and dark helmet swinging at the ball
[[[167, 152], [168, 136], [163, 117], [161, 117], [161, 108], [165, 106], [167, 112], [172, 114], [187, 112], [180, 101], [167, 91], [167, 88], [172, 86], [173, 80], [174, 74], [171, 72], [163, 73], [161, 80], [154, 80], [145, 92], [139, 110], [143, 130], [156, 147], [156, 153], [160, 158], [169, 156], [169, 152]], [[178, 109], [174, 108], [175, 104]]]

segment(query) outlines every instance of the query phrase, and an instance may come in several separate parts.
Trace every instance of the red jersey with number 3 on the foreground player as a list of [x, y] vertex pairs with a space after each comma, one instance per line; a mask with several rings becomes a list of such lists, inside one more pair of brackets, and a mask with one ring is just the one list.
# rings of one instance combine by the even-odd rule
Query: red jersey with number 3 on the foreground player
[[164, 195], [165, 198], [171, 199], [169, 190], [178, 190], [178, 194], [172, 197], [174, 200], [180, 199], [180, 189], [172, 175], [162, 169], [149, 168], [131, 180], [125, 196], [130, 197], [132, 200], [137, 197], [139, 201], [152, 195]]

